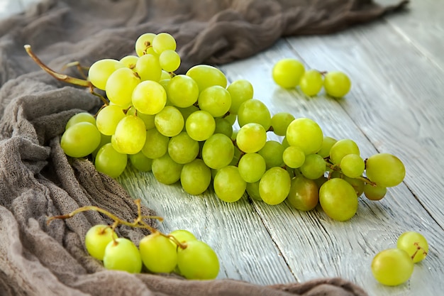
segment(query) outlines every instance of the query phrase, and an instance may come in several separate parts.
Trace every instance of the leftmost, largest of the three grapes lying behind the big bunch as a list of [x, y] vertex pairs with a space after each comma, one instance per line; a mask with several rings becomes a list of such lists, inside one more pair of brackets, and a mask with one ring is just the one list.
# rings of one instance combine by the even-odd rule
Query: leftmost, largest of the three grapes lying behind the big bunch
[[299, 84], [304, 72], [305, 67], [299, 60], [285, 58], [274, 64], [272, 78], [280, 87], [289, 89]]

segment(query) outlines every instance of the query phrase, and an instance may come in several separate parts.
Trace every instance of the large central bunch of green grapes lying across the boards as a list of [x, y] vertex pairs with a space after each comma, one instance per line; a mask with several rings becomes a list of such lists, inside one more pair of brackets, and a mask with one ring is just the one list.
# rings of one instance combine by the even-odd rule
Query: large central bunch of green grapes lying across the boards
[[312, 119], [272, 115], [248, 80], [228, 84], [210, 65], [172, 74], [179, 67], [175, 46], [172, 35], [146, 33], [135, 43], [138, 56], [95, 62], [89, 80], [109, 104], [96, 118], [70, 119], [65, 153], [91, 153], [96, 169], [111, 177], [131, 163], [163, 184], [180, 182], [189, 194], [212, 187], [225, 202], [247, 193], [267, 204], [287, 200], [301, 211], [321, 204], [338, 221], [355, 215], [362, 194], [379, 200], [404, 180], [394, 155], [365, 159], [353, 140], [325, 136]]

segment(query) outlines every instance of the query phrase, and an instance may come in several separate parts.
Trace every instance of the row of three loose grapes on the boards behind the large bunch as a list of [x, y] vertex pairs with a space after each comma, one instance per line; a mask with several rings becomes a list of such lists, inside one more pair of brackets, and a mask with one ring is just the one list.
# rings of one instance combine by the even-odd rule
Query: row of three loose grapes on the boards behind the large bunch
[[342, 71], [321, 72], [306, 70], [304, 65], [292, 57], [277, 61], [272, 70], [276, 84], [286, 89], [298, 87], [309, 97], [316, 96], [324, 88], [326, 94], [340, 98], [350, 92], [350, 77]]

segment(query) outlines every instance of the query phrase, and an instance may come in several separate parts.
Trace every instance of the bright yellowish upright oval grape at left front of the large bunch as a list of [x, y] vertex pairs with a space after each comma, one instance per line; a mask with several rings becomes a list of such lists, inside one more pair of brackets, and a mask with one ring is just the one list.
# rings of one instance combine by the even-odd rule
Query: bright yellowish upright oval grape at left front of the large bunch
[[118, 150], [122, 153], [138, 153], [145, 145], [145, 124], [138, 116], [127, 115], [121, 121], [118, 121], [113, 137]]

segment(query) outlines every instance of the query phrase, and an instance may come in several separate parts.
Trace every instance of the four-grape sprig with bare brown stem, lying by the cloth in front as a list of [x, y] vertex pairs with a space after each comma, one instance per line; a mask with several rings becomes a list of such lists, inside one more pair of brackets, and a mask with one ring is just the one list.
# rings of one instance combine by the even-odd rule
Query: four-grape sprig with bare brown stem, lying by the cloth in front
[[[144, 219], [162, 219], [158, 216], [142, 216], [140, 199], [138, 218], [133, 222], [123, 221], [114, 214], [94, 206], [80, 207], [73, 212], [54, 219], [67, 219], [79, 212], [94, 210], [106, 214], [112, 225], [96, 224], [85, 235], [84, 243], [90, 256], [102, 261], [109, 270], [123, 270], [128, 273], [141, 273], [143, 267], [150, 273], [177, 273], [190, 280], [212, 280], [219, 272], [218, 256], [204, 241], [185, 229], [177, 229], [170, 234], [163, 234], [143, 221]], [[118, 224], [149, 229], [151, 234], [140, 239], [138, 246], [130, 239], [118, 237], [115, 229]]]

